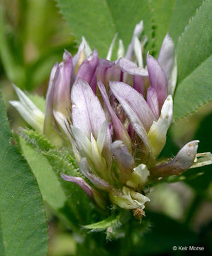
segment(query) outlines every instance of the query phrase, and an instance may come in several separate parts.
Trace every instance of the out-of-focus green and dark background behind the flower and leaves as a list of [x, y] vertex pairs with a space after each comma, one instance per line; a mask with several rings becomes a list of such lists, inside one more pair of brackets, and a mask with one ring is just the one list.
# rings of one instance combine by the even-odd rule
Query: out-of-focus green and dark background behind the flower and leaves
[[[22, 90], [45, 95], [50, 70], [62, 60], [63, 50], [77, 50], [72, 31], [53, 0], [1, 0], [0, 14], [0, 90], [13, 131], [27, 126], [9, 100], [16, 99], [11, 83]], [[199, 152], [211, 151], [212, 104], [172, 124], [162, 156], [174, 156], [180, 147], [199, 139]], [[160, 183], [150, 188], [151, 202], [144, 220], [145, 233], [135, 236], [130, 255], [187, 255], [173, 251], [174, 245], [195, 245], [212, 252], [212, 170], [211, 166], [191, 169], [182, 181]], [[52, 191], [53, 193], [53, 191]], [[49, 222], [48, 256], [76, 255], [80, 241], [46, 206]], [[76, 242], [77, 241], [77, 242]], [[119, 242], [118, 240], [116, 241]], [[116, 246], [107, 242], [106, 247]], [[78, 244], [78, 245], [77, 245]], [[141, 253], [142, 251], [142, 253]], [[116, 250], [114, 250], [114, 253]], [[115, 255], [115, 254], [114, 254]], [[116, 253], [116, 255], [118, 255]]]

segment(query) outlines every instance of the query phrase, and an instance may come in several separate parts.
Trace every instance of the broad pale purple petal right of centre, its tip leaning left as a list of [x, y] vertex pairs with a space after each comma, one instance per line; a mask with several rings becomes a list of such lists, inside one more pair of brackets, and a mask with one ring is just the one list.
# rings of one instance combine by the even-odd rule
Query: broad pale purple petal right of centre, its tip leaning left
[[151, 151], [147, 131], [150, 129], [155, 115], [150, 110], [143, 96], [124, 82], [110, 82], [111, 91], [121, 103], [125, 113], [139, 137], [143, 139], [147, 149]]

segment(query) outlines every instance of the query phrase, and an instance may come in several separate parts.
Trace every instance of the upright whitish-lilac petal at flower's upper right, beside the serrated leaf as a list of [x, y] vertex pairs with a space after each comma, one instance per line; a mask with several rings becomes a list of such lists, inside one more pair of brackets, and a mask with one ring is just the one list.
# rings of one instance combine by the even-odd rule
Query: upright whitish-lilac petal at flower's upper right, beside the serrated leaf
[[158, 56], [158, 62], [167, 78], [167, 82], [170, 85], [171, 83], [171, 73], [174, 65], [174, 42], [172, 38], [167, 34], [162, 42], [162, 46], [160, 48], [160, 53]]

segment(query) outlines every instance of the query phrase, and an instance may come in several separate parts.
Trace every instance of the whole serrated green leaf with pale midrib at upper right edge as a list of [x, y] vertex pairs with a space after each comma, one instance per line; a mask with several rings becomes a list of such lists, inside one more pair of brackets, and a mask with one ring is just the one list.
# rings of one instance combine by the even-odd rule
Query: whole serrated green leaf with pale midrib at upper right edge
[[204, 1], [186, 26], [177, 47], [179, 85], [174, 97], [174, 118], [194, 112], [212, 100], [212, 2]]

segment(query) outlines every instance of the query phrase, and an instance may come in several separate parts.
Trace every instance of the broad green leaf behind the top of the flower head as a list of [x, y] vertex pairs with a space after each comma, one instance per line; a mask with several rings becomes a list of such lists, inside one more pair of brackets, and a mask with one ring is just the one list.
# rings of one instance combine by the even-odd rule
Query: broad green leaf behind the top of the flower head
[[[177, 39], [194, 16], [202, 0], [57, 0], [62, 15], [72, 28], [77, 42], [85, 36], [91, 46], [106, 58], [113, 36], [123, 40], [125, 48], [131, 41], [135, 24], [143, 20], [147, 50], [157, 54], [169, 31]], [[80, 18], [79, 18], [80, 17]]]

